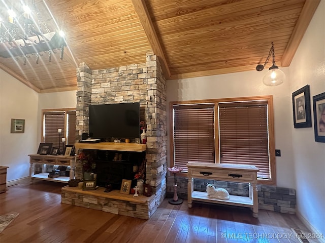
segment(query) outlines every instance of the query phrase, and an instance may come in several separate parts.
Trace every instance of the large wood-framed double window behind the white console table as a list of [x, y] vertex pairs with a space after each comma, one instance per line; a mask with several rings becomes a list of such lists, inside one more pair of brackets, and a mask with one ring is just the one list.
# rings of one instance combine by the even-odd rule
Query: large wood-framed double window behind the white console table
[[172, 166], [189, 161], [254, 165], [275, 184], [272, 96], [172, 102]]

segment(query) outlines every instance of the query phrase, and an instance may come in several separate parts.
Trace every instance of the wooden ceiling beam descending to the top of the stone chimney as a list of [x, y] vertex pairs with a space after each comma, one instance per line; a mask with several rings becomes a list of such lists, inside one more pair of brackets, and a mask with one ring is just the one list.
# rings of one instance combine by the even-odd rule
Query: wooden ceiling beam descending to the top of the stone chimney
[[159, 43], [159, 39], [156, 31], [154, 30], [153, 23], [151, 21], [145, 0], [132, 0], [133, 6], [139, 16], [140, 22], [143, 26], [144, 32], [146, 33], [150, 46], [154, 54], [158, 56], [161, 61], [161, 67], [163, 68], [165, 77], [167, 79], [170, 78], [171, 72], [168, 67], [168, 63], [163, 51]]

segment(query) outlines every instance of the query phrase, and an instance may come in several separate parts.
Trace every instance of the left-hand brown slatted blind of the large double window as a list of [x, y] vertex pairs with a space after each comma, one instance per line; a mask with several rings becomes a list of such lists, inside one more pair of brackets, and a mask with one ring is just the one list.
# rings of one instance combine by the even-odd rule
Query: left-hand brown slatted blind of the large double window
[[174, 105], [174, 165], [214, 163], [214, 104]]

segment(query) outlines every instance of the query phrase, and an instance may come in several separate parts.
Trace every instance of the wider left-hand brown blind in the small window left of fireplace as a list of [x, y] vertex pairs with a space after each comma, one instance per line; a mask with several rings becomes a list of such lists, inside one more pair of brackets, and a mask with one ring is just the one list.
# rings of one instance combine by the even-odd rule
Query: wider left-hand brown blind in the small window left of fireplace
[[62, 129], [61, 136], [64, 136], [64, 111], [44, 112], [44, 142], [53, 143], [53, 147], [59, 147], [59, 135], [57, 129]]

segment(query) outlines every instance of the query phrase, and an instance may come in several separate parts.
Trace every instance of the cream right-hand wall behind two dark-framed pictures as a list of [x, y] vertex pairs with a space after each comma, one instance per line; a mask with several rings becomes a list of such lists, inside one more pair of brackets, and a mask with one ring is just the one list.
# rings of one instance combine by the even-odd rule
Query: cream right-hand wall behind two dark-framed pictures
[[[325, 235], [325, 143], [314, 141], [312, 97], [325, 92], [325, 1], [320, 4], [290, 65], [291, 93], [310, 86], [312, 127], [295, 129], [297, 207], [299, 214]], [[291, 119], [293, 122], [293, 119]]]

